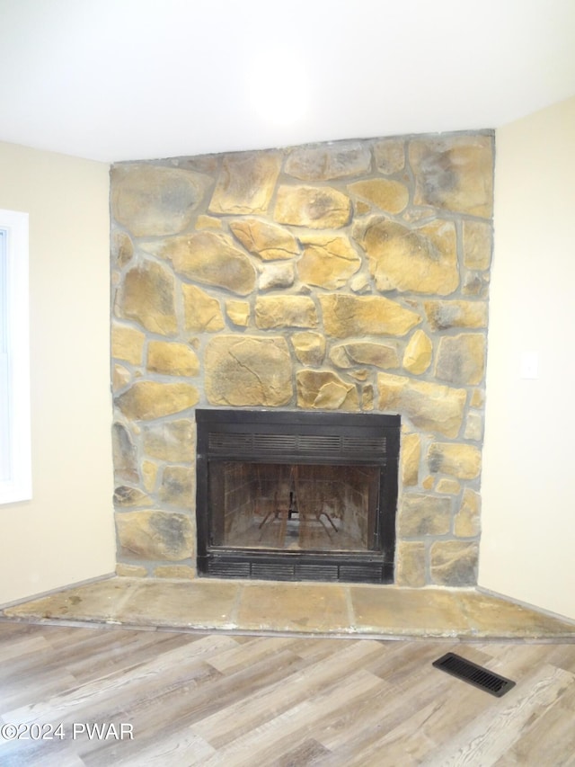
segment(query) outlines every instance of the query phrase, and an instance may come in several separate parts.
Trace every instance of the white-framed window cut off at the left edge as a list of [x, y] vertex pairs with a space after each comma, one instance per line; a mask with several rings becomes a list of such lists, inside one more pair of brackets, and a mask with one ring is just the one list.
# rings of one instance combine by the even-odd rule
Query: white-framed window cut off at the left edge
[[30, 500], [28, 213], [0, 210], [0, 504]]

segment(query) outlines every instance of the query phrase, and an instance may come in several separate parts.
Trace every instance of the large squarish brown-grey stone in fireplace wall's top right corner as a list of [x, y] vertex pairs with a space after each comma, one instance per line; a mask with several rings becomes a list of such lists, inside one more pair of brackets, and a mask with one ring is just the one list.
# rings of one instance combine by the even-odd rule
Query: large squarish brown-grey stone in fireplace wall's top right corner
[[414, 139], [410, 142], [409, 158], [415, 176], [415, 205], [491, 218], [491, 136]]

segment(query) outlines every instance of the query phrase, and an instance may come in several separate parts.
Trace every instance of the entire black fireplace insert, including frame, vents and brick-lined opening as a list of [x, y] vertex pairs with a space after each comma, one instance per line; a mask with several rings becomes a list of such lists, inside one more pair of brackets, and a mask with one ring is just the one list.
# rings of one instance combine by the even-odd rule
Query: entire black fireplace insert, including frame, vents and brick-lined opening
[[394, 582], [400, 416], [198, 409], [199, 575]]

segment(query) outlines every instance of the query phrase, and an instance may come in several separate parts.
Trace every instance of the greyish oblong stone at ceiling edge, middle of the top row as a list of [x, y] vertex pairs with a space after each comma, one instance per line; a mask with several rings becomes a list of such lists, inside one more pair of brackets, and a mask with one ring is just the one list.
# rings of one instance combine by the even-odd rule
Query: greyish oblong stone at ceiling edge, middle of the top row
[[291, 149], [285, 172], [301, 181], [327, 181], [367, 174], [370, 165], [371, 154], [363, 142], [336, 141]]

